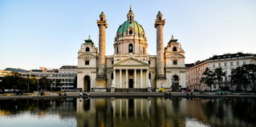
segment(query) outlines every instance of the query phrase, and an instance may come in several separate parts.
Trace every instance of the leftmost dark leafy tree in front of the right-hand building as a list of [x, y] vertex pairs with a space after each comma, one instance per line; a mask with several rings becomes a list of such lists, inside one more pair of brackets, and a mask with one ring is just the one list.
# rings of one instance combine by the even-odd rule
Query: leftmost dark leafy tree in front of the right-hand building
[[205, 83], [205, 85], [209, 86], [212, 89], [212, 85], [214, 84], [215, 73], [210, 70], [208, 67], [205, 69], [205, 72], [202, 73], [205, 77], [201, 77], [201, 82]]

